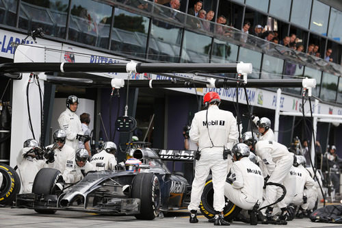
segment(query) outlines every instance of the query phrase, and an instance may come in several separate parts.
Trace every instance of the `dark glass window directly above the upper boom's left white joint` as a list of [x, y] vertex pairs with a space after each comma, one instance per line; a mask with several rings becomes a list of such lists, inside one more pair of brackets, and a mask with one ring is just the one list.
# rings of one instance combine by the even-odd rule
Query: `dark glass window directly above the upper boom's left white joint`
[[144, 58], [147, 39], [142, 37], [148, 33], [148, 21], [146, 16], [116, 8], [110, 49]]

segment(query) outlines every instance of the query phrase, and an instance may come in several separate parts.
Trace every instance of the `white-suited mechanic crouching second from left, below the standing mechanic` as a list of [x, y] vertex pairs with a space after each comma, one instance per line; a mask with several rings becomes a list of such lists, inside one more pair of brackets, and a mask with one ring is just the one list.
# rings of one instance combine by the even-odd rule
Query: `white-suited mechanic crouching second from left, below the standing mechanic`
[[66, 144], [66, 133], [58, 129], [53, 132], [53, 144], [47, 146], [47, 152], [44, 153], [50, 168], [60, 170], [66, 181], [66, 173], [73, 169], [75, 161], [75, 150]]

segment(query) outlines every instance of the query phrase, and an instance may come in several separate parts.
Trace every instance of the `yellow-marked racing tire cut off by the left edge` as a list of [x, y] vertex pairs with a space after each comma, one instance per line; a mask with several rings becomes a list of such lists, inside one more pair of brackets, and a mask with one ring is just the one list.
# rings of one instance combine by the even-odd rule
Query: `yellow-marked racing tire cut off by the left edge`
[[21, 190], [21, 179], [16, 171], [5, 164], [0, 164], [0, 173], [3, 177], [0, 183], [0, 204], [10, 205]]

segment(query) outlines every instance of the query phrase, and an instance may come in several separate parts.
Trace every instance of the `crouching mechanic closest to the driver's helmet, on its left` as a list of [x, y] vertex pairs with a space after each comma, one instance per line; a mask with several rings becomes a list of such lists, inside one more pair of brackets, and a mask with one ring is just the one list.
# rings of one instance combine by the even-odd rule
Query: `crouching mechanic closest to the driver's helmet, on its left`
[[90, 163], [96, 170], [114, 170], [116, 166], [116, 144], [114, 142], [105, 142], [100, 153], [94, 154]]

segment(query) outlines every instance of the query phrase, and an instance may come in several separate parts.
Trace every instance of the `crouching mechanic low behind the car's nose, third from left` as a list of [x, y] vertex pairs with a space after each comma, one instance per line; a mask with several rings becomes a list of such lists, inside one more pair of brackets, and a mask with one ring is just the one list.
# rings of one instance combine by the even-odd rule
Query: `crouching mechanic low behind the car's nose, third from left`
[[64, 181], [66, 183], [77, 183], [86, 174], [94, 170], [94, 166], [90, 162], [88, 162], [89, 153], [84, 148], [79, 148], [75, 154], [75, 162], [73, 162], [73, 168], [66, 170], [65, 175], [63, 175]]

